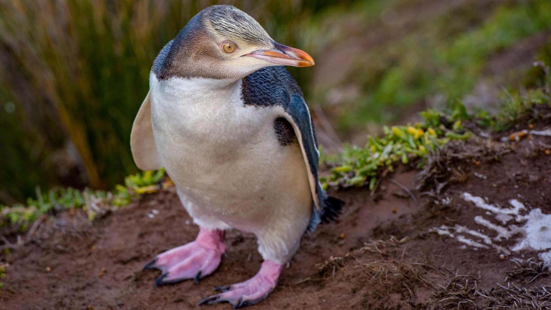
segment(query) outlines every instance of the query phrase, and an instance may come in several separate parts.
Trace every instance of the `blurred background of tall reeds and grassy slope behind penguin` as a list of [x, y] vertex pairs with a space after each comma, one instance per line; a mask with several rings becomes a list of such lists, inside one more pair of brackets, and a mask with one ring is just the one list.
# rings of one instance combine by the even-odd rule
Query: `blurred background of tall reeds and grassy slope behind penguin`
[[491, 111], [537, 83], [534, 60], [551, 63], [549, 0], [0, 0], [0, 203], [136, 172], [153, 59], [216, 3], [316, 60], [289, 70], [329, 151], [452, 101]]

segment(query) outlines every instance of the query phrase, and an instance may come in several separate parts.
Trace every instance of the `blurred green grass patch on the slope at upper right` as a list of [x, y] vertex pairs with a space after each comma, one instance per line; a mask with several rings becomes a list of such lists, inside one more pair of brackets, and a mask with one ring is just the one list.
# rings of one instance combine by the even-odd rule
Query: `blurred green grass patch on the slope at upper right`
[[[470, 17], [470, 18], [469, 18]], [[475, 25], [474, 28], [472, 25]], [[551, 28], [551, 2], [507, 2], [486, 10], [461, 7], [424, 20], [389, 44], [366, 52], [343, 84], [360, 94], [341, 109], [341, 130], [366, 121], [389, 122], [392, 111], [440, 93], [447, 100], [468, 94], [484, 76], [491, 56]]]

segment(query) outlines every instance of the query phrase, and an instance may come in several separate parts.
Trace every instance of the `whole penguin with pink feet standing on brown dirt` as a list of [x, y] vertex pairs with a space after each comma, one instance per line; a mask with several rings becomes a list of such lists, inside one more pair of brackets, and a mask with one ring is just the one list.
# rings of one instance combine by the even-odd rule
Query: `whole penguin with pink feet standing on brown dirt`
[[226, 5], [201, 10], [159, 52], [132, 126], [132, 155], [142, 170], [165, 168], [199, 233], [144, 266], [161, 270], [154, 286], [212, 274], [224, 232], [235, 228], [256, 235], [261, 268], [199, 304], [257, 303], [274, 290], [304, 233], [339, 215], [343, 201], [318, 180], [308, 106], [284, 67], [313, 65]]

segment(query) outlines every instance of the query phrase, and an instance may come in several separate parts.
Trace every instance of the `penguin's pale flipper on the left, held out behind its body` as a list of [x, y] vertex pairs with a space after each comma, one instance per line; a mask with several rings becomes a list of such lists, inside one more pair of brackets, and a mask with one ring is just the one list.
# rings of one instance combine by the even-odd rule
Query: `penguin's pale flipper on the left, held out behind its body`
[[130, 133], [130, 148], [134, 163], [142, 170], [158, 170], [163, 167], [161, 164], [151, 122], [151, 101], [150, 92], [143, 100], [138, 110], [132, 132]]

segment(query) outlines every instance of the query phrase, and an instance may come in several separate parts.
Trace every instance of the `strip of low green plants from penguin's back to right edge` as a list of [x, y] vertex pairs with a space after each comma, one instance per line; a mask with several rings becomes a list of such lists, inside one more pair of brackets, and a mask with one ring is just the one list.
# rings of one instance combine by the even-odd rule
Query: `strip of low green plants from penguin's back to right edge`
[[522, 94], [505, 90], [505, 97], [495, 115], [483, 109], [469, 112], [461, 101], [456, 100], [444, 113], [435, 109], [420, 113], [422, 123], [383, 126], [383, 135], [368, 135], [364, 147], [344, 146], [343, 151], [334, 156], [322, 154], [320, 164], [332, 167], [329, 175], [320, 178], [323, 188], [369, 185], [372, 190], [377, 180], [393, 172], [399, 162], [408, 164], [413, 161], [417, 168], [422, 168], [426, 158], [444, 148], [446, 143], [469, 138], [470, 133], [462, 125], [465, 121], [494, 132], [517, 124], [531, 114], [534, 106], [551, 104], [551, 68], [543, 62], [537, 62], [537, 67], [544, 72], [541, 82], [536, 83], [541, 87], [525, 90]]

